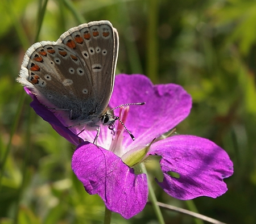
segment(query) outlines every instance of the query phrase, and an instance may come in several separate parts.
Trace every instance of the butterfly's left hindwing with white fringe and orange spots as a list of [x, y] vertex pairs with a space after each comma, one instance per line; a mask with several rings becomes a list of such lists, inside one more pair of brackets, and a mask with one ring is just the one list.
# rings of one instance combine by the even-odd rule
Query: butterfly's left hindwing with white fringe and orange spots
[[[88, 103], [93, 93], [79, 56], [64, 44], [51, 41], [36, 43], [27, 50], [18, 81], [30, 88], [44, 105], [63, 109], [67, 115], [73, 110], [74, 120], [80, 116], [80, 102]], [[81, 82], [84, 89], [79, 92], [76, 86]]]

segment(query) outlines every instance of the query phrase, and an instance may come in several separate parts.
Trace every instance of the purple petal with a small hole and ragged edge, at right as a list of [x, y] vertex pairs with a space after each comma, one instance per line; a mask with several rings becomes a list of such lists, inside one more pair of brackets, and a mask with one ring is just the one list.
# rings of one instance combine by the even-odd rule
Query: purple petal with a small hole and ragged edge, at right
[[[228, 154], [210, 140], [196, 136], [172, 136], [153, 143], [148, 154], [160, 155], [164, 179], [158, 182], [169, 195], [181, 200], [199, 196], [216, 198], [228, 188], [223, 179], [233, 174]], [[168, 172], [176, 172], [179, 178]]]

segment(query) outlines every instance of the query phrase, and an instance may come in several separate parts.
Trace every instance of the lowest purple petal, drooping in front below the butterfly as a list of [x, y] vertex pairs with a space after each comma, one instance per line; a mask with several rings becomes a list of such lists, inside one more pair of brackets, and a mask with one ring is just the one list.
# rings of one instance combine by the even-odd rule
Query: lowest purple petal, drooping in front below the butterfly
[[111, 151], [83, 142], [73, 154], [72, 170], [90, 195], [97, 193], [109, 210], [124, 218], [133, 217], [146, 205], [146, 174], [134, 174]]

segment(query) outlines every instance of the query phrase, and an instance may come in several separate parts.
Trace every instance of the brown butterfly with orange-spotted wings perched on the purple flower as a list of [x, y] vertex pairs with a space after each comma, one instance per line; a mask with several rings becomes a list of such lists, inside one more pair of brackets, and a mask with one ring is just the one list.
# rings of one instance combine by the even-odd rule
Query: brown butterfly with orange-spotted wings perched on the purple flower
[[[112, 96], [119, 39], [107, 20], [90, 22], [64, 32], [57, 41], [28, 48], [17, 81], [39, 102], [61, 114], [67, 128], [98, 130], [118, 117], [108, 109]], [[83, 130], [84, 130], [83, 129]]]

